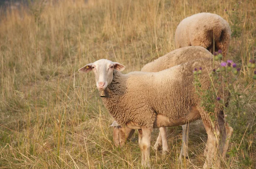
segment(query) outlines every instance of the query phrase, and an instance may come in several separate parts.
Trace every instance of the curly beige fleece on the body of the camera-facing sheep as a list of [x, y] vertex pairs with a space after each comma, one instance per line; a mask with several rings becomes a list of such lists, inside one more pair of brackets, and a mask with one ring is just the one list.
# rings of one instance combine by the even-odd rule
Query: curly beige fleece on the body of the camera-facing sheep
[[[209, 89], [211, 81], [206, 70], [211, 67], [211, 63], [211, 58], [195, 59], [156, 73], [122, 74], [114, 70], [113, 81], [105, 90], [106, 97], [102, 101], [123, 127], [132, 121], [153, 129], [156, 113], [176, 120], [185, 118], [191, 106], [196, 106], [202, 120], [211, 124], [208, 113], [200, 108], [192, 72], [193, 68], [202, 67], [205, 70], [200, 75], [202, 88]], [[218, 91], [218, 95], [222, 93]]]

